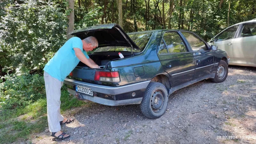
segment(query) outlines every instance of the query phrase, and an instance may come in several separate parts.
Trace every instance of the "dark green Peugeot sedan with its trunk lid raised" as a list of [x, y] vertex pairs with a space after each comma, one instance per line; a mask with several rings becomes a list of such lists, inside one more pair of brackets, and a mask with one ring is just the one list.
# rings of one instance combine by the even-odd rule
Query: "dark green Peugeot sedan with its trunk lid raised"
[[[126, 34], [117, 24], [82, 28], [71, 33], [95, 36], [89, 54], [101, 69], [80, 62], [64, 80], [79, 100], [108, 106], [140, 104], [148, 118], [162, 116], [172, 92], [204, 79], [223, 82], [228, 54], [186, 30], [150, 30]], [[124, 58], [120, 58], [121, 52]]]

